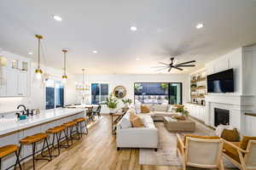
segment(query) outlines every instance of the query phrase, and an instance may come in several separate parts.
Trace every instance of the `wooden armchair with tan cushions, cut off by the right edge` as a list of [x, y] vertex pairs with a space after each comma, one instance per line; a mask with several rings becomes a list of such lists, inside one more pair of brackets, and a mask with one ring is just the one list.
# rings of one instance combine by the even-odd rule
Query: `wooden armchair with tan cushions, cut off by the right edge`
[[255, 170], [256, 137], [244, 136], [241, 142], [224, 140], [223, 154], [241, 170]]

